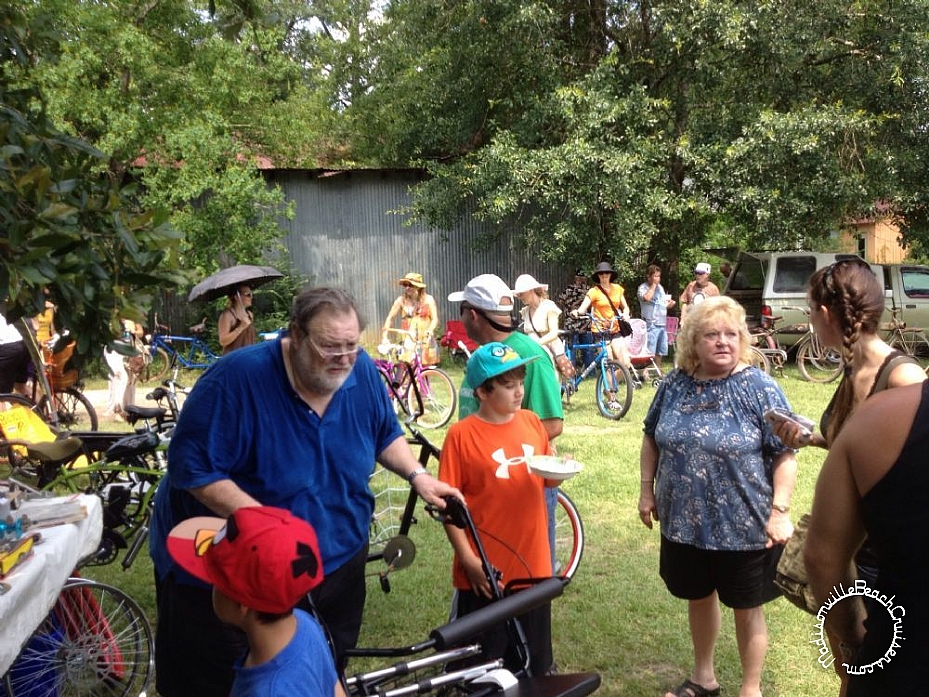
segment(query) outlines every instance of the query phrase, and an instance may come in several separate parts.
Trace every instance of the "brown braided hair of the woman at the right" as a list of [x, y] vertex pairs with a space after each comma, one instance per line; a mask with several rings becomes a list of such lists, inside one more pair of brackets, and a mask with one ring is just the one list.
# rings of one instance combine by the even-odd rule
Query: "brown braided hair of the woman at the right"
[[820, 269], [810, 278], [810, 302], [828, 307], [842, 330], [845, 372], [832, 399], [832, 416], [826, 443], [832, 445], [857, 406], [851, 379], [854, 348], [862, 334], [876, 334], [884, 313], [884, 286], [871, 267], [860, 259], [843, 259]]

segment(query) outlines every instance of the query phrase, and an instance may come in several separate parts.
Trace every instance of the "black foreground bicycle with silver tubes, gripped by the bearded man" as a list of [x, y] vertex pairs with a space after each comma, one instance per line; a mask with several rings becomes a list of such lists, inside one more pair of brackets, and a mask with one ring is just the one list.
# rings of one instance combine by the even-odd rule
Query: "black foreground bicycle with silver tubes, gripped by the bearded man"
[[[488, 579], [495, 579], [479, 531], [464, 504], [453, 497], [446, 497], [444, 511], [427, 506], [427, 512], [443, 524], [455, 525], [467, 531]], [[551, 697], [580, 697], [595, 692], [600, 686], [597, 673], [569, 673], [555, 675], [533, 675], [530, 669], [529, 647], [520, 615], [552, 601], [564, 592], [568, 580], [547, 577], [544, 579], [513, 579], [501, 591], [494, 580], [491, 589], [494, 602], [485, 608], [457, 618], [429, 633], [425, 641], [404, 647], [355, 648], [346, 652], [348, 657], [402, 658], [411, 660], [394, 663], [386, 668], [355, 673], [345, 680], [350, 695], [389, 695], [399, 697], [407, 694], [507, 694], [548, 695]], [[506, 593], [519, 590], [511, 595]], [[478, 659], [477, 665], [460, 665], [461, 661], [475, 660], [481, 653], [479, 644], [467, 642], [488, 629], [505, 623], [516, 650], [519, 668], [506, 670], [502, 658]], [[428, 655], [419, 656], [418, 654]], [[452, 665], [454, 664], [454, 665]], [[425, 672], [431, 675], [425, 675]]]

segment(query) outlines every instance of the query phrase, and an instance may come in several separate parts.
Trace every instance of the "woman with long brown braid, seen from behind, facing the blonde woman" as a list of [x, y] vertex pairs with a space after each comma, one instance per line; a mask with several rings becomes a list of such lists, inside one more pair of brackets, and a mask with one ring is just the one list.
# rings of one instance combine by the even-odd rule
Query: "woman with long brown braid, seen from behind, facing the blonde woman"
[[[810, 278], [807, 301], [810, 323], [820, 341], [842, 352], [845, 372], [829, 406], [820, 418], [821, 433], [808, 434], [792, 423], [775, 425], [774, 433], [785, 445], [800, 448], [815, 445], [828, 450], [842, 427], [859, 406], [876, 392], [891, 387], [920, 383], [926, 374], [910, 356], [892, 349], [878, 335], [884, 313], [884, 286], [871, 267], [861, 259], [843, 259], [817, 271]], [[865, 540], [855, 556], [859, 578], [874, 585], [880, 567], [880, 550]], [[869, 631], [886, 633], [880, 612], [869, 623]], [[886, 611], [884, 612], [886, 616]], [[847, 650], [827, 628], [833, 655]], [[841, 661], [835, 662], [844, 696], [848, 675]]]

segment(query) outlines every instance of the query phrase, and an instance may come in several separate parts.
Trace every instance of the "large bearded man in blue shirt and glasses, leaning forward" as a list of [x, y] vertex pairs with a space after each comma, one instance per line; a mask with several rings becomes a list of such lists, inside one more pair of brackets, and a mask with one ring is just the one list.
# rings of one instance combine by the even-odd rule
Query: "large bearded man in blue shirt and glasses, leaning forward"
[[341, 657], [355, 645], [364, 608], [374, 461], [407, 478], [426, 501], [441, 506], [443, 495], [460, 496], [413, 456], [373, 362], [359, 350], [362, 329], [344, 291], [304, 291], [287, 336], [224, 357], [184, 404], [151, 534], [164, 697], [225, 697], [245, 647], [213, 614], [210, 589], [168, 555], [165, 540], [179, 521], [255, 505], [308, 520], [326, 576], [313, 600]]

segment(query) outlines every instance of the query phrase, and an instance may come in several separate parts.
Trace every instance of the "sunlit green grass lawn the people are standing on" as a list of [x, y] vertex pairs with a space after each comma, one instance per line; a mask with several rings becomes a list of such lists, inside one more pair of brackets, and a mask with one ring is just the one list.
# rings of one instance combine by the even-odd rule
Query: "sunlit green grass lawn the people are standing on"
[[[449, 372], [460, 381], [461, 368]], [[835, 385], [804, 382], [795, 369], [778, 378], [794, 409], [818, 419]], [[553, 607], [555, 657], [562, 671], [596, 670], [603, 678], [597, 694], [654, 697], [678, 684], [691, 668], [686, 603], [672, 598], [658, 577], [658, 531], [639, 521], [639, 445], [642, 419], [654, 389], [636, 392], [632, 408], [619, 422], [598, 415], [593, 384], [586, 382], [565, 414], [561, 454], [573, 454], [584, 471], [565, 483], [584, 520], [587, 546], [575, 580]], [[444, 431], [427, 432], [441, 443]], [[799, 455], [800, 474], [792, 503], [796, 519], [809, 510], [823, 451]], [[369, 579], [361, 643], [407, 645], [442, 624], [451, 594], [451, 550], [441, 526], [424, 513], [411, 533], [417, 546], [409, 569], [392, 574], [392, 591]], [[118, 564], [88, 568], [85, 575], [129, 592], [152, 615], [151, 563], [140, 556], [129, 572]], [[810, 643], [814, 618], [779, 599], [766, 607], [770, 648], [763, 687], [766, 695], [818, 697], [835, 694], [838, 681], [817, 663]], [[360, 667], [360, 666], [359, 666]], [[350, 666], [351, 669], [351, 666]], [[738, 692], [738, 653], [732, 613], [724, 610], [717, 646], [717, 675], [723, 694]]]

